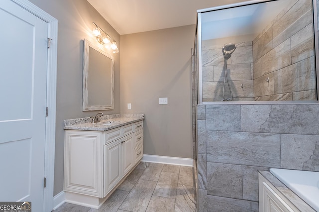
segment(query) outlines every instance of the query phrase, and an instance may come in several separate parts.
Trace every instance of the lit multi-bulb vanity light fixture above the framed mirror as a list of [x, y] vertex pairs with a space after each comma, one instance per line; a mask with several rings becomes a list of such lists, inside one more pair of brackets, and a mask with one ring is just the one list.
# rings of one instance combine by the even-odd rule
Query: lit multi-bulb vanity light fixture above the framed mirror
[[98, 25], [96, 25], [94, 22], [94, 28], [92, 30], [92, 34], [95, 36], [96, 40], [105, 48], [112, 49], [113, 53], [118, 53], [119, 49], [117, 47], [116, 41], [108, 35], [106, 32], [104, 32], [103, 29], [101, 29]]

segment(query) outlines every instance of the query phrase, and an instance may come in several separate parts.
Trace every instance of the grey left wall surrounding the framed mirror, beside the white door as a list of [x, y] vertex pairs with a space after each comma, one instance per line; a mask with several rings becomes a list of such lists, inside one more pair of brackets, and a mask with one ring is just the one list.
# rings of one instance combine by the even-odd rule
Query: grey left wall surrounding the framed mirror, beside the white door
[[[119, 34], [86, 0], [29, 0], [58, 20], [58, 64], [56, 102], [56, 141], [54, 168], [54, 195], [63, 190], [64, 130], [63, 120], [89, 117], [97, 111], [82, 112], [83, 39], [91, 39], [94, 21], [110, 34], [120, 46]], [[54, 42], [54, 41], [53, 41]], [[112, 54], [112, 53], [111, 53]], [[115, 58], [114, 110], [120, 112], [120, 54]], [[99, 94], [97, 94], [99, 95]]]

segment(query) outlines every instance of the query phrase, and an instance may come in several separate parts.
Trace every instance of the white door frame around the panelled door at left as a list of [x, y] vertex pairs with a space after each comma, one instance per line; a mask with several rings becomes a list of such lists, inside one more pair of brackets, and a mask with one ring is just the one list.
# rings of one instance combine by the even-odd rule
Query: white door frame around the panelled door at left
[[35, 6], [28, 0], [11, 0], [20, 7], [48, 23], [48, 37], [50, 48], [47, 55], [47, 91], [46, 106], [49, 108], [46, 117], [45, 129], [45, 162], [44, 177], [46, 187], [44, 188], [43, 211], [53, 210], [54, 192], [54, 159], [55, 159], [55, 131], [56, 131], [56, 82], [57, 82], [57, 44], [58, 44], [58, 20]]

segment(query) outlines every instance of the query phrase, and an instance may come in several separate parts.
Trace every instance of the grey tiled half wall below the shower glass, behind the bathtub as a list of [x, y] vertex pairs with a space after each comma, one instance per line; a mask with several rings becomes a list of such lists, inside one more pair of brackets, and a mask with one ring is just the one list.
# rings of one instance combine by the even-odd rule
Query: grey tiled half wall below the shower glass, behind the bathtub
[[319, 171], [319, 106], [198, 105], [198, 211], [257, 212], [257, 170]]

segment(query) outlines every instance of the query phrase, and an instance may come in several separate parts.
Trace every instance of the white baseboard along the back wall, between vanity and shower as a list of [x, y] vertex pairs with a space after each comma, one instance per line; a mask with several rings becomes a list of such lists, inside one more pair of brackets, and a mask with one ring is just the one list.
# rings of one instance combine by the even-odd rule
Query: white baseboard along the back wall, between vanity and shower
[[143, 155], [142, 162], [164, 163], [170, 165], [193, 166], [193, 159], [182, 157], [167, 157], [158, 155]]

